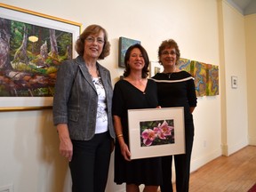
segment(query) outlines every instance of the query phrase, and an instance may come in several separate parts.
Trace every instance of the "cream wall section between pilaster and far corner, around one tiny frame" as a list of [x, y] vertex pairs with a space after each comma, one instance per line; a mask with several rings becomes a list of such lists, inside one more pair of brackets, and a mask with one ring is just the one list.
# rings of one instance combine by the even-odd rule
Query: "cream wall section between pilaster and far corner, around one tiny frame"
[[[225, 75], [226, 103], [221, 108], [225, 108], [227, 117], [226, 127], [225, 124], [222, 126], [222, 132], [227, 132], [227, 140], [222, 145], [227, 145], [225, 154], [230, 155], [248, 144], [245, 30], [243, 15], [227, 3], [222, 3], [222, 11], [225, 70], [221, 73]], [[238, 79], [236, 89], [231, 88], [231, 76]]]

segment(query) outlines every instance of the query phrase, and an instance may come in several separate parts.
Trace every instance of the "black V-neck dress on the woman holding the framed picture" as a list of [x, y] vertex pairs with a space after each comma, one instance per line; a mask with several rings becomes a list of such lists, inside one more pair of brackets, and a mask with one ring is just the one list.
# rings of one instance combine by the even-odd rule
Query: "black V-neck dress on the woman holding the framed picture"
[[[113, 95], [113, 115], [120, 116], [123, 127], [124, 141], [129, 146], [128, 139], [128, 109], [156, 108], [158, 104], [156, 83], [148, 79], [145, 92], [141, 92], [126, 80], [115, 84]], [[115, 149], [116, 184], [145, 184], [159, 186], [162, 183], [161, 158], [134, 159], [130, 162], [121, 154], [119, 143]]]

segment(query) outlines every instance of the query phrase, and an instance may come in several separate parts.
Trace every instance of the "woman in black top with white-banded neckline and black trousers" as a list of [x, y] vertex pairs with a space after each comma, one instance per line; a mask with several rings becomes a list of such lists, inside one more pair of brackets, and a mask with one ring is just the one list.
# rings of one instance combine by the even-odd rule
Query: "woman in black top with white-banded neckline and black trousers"
[[[158, 101], [162, 108], [184, 107], [186, 154], [175, 155], [176, 191], [188, 192], [190, 159], [194, 140], [192, 112], [196, 108], [196, 90], [194, 78], [186, 71], [176, 67], [180, 60], [178, 44], [170, 39], [164, 41], [158, 49], [158, 58], [164, 67], [163, 73], [157, 73], [155, 79], [158, 89]], [[172, 156], [162, 157], [163, 185], [161, 192], [172, 192]]]

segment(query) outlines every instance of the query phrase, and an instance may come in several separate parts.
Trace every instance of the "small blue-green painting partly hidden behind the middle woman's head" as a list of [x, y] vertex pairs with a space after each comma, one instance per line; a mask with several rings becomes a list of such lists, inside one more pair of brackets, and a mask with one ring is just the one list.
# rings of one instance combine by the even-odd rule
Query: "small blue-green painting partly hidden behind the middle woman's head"
[[118, 66], [119, 67], [121, 67], [121, 68], [125, 67], [124, 66], [125, 52], [132, 44], [140, 44], [140, 41], [126, 38], [123, 36], [119, 37], [119, 51], [118, 51]]

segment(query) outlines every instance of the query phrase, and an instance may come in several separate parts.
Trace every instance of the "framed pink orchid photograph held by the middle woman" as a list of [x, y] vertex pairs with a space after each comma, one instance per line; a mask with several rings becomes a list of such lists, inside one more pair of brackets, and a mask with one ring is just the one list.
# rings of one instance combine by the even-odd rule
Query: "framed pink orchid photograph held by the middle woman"
[[131, 159], [185, 153], [184, 109], [128, 110]]

